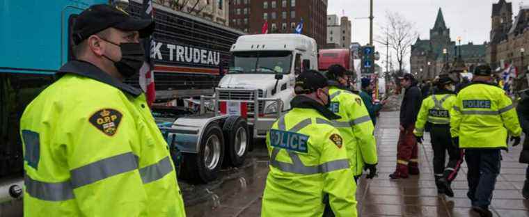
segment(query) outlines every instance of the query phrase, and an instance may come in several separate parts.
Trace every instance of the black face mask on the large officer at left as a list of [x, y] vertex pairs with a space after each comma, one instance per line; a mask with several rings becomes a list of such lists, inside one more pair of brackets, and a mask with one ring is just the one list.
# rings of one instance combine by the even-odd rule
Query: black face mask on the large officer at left
[[108, 40], [105, 41], [120, 47], [120, 61], [116, 62], [108, 56], [103, 56], [114, 63], [114, 66], [116, 66], [118, 72], [120, 72], [120, 74], [123, 75], [125, 79], [132, 77], [134, 74], [139, 72], [141, 66], [143, 66], [143, 62], [145, 61], [145, 51], [143, 50], [143, 46], [140, 43], [120, 43], [118, 45]]

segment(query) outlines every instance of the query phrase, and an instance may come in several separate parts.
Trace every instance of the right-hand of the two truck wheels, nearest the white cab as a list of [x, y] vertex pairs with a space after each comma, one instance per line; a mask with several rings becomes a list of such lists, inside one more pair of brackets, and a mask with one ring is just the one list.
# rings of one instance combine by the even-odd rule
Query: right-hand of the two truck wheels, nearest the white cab
[[248, 124], [246, 120], [239, 116], [230, 116], [224, 122], [224, 138], [226, 138], [226, 157], [231, 166], [242, 166], [246, 154], [250, 135], [248, 134]]

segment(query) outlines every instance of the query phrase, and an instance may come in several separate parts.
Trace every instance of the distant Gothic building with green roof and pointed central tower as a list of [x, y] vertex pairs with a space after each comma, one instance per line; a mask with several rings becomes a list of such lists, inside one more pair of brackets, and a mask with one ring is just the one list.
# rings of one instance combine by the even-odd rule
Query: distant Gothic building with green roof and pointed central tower
[[429, 31], [429, 40], [417, 38], [411, 45], [410, 70], [418, 79], [431, 80], [455, 63], [464, 61], [466, 70], [472, 70], [475, 65], [485, 62], [486, 44], [467, 45], [456, 44], [450, 38], [450, 29], [445, 24], [443, 11], [439, 8], [434, 28]]

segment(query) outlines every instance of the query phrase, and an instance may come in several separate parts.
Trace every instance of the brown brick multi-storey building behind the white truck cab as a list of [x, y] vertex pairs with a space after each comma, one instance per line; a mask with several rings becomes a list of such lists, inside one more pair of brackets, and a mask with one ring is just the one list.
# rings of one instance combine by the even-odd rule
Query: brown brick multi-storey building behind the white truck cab
[[326, 44], [327, 0], [232, 0], [230, 7], [232, 28], [260, 34], [267, 22], [268, 33], [294, 33], [303, 19], [301, 33]]

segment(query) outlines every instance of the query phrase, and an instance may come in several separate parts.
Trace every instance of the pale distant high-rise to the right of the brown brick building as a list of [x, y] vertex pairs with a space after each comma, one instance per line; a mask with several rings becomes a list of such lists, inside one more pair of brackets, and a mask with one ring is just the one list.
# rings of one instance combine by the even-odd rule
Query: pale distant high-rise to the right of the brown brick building
[[327, 15], [326, 48], [349, 49], [351, 31], [351, 21], [348, 17], [341, 17], [338, 22], [338, 15]]

